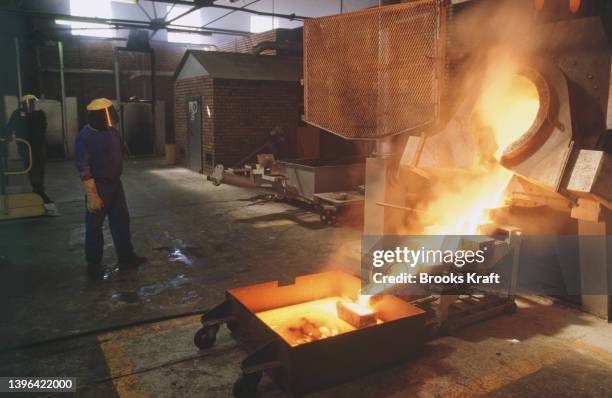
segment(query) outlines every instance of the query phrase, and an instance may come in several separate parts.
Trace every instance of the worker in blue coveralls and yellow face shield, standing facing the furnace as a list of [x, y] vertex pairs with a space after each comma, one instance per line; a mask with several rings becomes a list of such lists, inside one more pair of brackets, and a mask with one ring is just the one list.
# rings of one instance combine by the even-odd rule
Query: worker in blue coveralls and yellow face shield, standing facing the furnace
[[147, 261], [134, 253], [130, 236], [130, 214], [121, 184], [126, 149], [114, 128], [119, 117], [113, 103], [99, 98], [87, 105], [89, 124], [79, 132], [75, 144], [75, 163], [86, 194], [85, 258], [92, 278], [104, 277], [102, 265], [104, 237], [108, 223], [120, 269], [137, 267]]

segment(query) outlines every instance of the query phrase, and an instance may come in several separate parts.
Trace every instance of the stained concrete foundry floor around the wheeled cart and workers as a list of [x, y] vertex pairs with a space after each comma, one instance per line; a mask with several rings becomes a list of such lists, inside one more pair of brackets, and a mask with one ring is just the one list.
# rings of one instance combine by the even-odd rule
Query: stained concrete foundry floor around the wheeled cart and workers
[[[225, 328], [198, 351], [190, 314], [229, 287], [358, 266], [357, 226], [322, 227], [299, 207], [154, 160], [128, 162], [124, 184], [135, 246], [150, 258], [138, 271], [86, 278], [82, 192], [69, 163], [49, 165], [61, 218], [1, 224], [0, 375], [75, 376], [79, 396], [228, 397], [246, 353]], [[110, 236], [105, 258], [112, 266]], [[264, 378], [260, 396], [284, 395]], [[311, 396], [612, 397], [612, 325], [523, 297], [513, 316]]]

